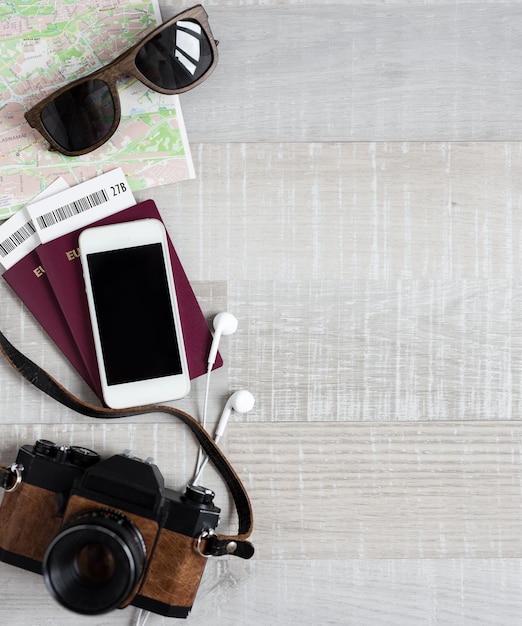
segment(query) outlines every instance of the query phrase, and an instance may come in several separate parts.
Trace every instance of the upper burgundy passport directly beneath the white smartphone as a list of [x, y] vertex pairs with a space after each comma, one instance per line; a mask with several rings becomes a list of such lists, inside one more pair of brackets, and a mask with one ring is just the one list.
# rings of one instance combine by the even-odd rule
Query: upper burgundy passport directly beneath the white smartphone
[[[163, 221], [153, 200], [140, 202], [115, 215], [99, 220], [91, 224], [90, 227], [144, 218]], [[68, 330], [74, 338], [87, 370], [86, 381], [89, 382], [88, 379], [93, 381], [91, 386], [101, 397], [99, 393], [100, 377], [96, 363], [83, 272], [78, 254], [78, 237], [82, 230], [84, 229], [73, 231], [42, 244], [36, 248], [35, 253], [38, 254], [42, 267], [45, 268], [45, 274], [60, 305], [63, 318], [66, 320]], [[212, 335], [168, 233], [167, 239], [189, 374], [190, 378], [193, 379], [207, 371]], [[218, 355], [215, 367], [221, 365], [223, 365], [223, 361]]]

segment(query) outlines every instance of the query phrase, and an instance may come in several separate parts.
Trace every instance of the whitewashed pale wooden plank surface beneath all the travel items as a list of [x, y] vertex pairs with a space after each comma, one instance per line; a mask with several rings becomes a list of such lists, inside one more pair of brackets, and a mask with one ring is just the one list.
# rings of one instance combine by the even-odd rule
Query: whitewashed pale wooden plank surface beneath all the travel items
[[[255, 394], [224, 445], [257, 554], [210, 562], [187, 623], [522, 623], [522, 3], [205, 6], [220, 62], [182, 97], [197, 179], [139, 197], [209, 320], [240, 321], [211, 422]], [[0, 299], [9, 338], [89, 399], [1, 282]], [[93, 422], [1, 363], [0, 384], [0, 462], [46, 436], [191, 475], [166, 418]], [[198, 415], [202, 392], [178, 406]], [[136, 617], [71, 616], [5, 564], [0, 589], [11, 626]]]

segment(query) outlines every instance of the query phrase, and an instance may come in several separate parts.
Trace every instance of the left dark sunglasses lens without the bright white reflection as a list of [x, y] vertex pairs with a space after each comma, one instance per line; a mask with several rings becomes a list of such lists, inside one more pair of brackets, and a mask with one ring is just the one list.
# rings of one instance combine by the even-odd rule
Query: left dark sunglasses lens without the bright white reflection
[[101, 80], [86, 80], [60, 94], [40, 113], [49, 135], [68, 152], [85, 150], [111, 133], [114, 101]]

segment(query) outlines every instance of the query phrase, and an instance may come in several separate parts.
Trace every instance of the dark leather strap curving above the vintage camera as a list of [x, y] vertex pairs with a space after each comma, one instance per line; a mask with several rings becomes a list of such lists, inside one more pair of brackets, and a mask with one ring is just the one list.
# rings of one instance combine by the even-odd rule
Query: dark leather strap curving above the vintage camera
[[[118, 417], [131, 417], [133, 415], [143, 415], [145, 413], [167, 413], [181, 420], [190, 428], [198, 443], [203, 448], [203, 451], [225, 481], [230, 493], [232, 494], [239, 519], [237, 535], [209, 533], [208, 537], [205, 539], [205, 553], [210, 556], [230, 554], [244, 559], [249, 559], [253, 556], [254, 547], [249, 541], [247, 541], [253, 529], [253, 512], [250, 498], [248, 497], [243, 483], [226, 456], [197, 420], [195, 420], [188, 413], [171, 406], [137, 406], [120, 410], [98, 407], [84, 402], [70, 393], [50, 374], [17, 350], [1, 331], [0, 352], [4, 355], [7, 361], [31, 384], [46, 393], [51, 398], [54, 398], [64, 406], [80, 413], [81, 415], [100, 419], [112, 419]], [[9, 472], [9, 470], [7, 470], [7, 472]], [[10, 480], [10, 478], [7, 476], [5, 471], [3, 474], [0, 474], [0, 482], [8, 480]]]

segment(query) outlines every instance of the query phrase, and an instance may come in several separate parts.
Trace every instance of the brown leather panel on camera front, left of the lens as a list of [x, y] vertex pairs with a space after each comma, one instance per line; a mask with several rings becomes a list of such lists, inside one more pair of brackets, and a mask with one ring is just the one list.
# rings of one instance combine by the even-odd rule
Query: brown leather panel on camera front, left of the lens
[[16, 491], [4, 494], [0, 506], [0, 545], [4, 550], [41, 563], [61, 524], [56, 494], [23, 482]]

